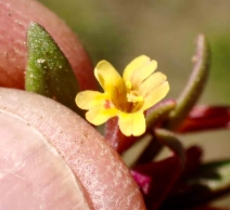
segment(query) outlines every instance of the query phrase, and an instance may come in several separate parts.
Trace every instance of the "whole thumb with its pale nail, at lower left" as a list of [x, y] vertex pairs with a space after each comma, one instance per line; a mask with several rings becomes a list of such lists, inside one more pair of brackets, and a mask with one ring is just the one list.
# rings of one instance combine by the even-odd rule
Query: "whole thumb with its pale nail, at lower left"
[[0, 208], [143, 210], [118, 154], [75, 113], [0, 89]]

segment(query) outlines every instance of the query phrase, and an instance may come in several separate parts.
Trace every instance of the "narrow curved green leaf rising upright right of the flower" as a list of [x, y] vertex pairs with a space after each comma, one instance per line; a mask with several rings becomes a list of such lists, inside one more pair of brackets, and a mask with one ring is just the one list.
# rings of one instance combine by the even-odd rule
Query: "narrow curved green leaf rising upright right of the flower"
[[177, 100], [177, 106], [169, 115], [167, 127], [176, 130], [195, 105], [205, 87], [210, 64], [210, 50], [204, 35], [197, 37], [196, 55], [192, 75]]

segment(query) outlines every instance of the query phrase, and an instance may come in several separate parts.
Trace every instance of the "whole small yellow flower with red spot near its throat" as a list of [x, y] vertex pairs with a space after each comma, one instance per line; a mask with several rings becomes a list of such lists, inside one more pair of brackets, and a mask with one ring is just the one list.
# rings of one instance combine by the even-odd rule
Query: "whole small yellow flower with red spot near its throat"
[[87, 109], [86, 118], [99, 126], [117, 116], [120, 131], [127, 135], [141, 135], [145, 131], [144, 110], [159, 102], [169, 91], [166, 76], [159, 71], [156, 61], [141, 55], [125, 68], [123, 77], [106, 61], [101, 61], [94, 76], [104, 93], [82, 91], [76, 104]]

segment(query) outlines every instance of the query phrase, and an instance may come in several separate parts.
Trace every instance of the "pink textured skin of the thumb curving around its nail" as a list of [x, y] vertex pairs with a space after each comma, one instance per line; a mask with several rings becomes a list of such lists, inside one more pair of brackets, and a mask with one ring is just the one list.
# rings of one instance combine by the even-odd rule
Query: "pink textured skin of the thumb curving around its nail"
[[[79, 180], [89, 207], [92, 205], [95, 210], [145, 209], [139, 188], [120, 157], [75, 113], [50, 99], [20, 90], [0, 89], [0, 99], [1, 113], [22, 119], [27, 127], [35, 129], [47, 144], [52, 145], [49, 149], [55, 147], [76, 180]], [[22, 141], [24, 139], [18, 140], [18, 148], [22, 148]], [[4, 161], [4, 166], [12, 169], [14, 165], [11, 159], [7, 158]], [[30, 161], [31, 170], [36, 169], [36, 162]], [[24, 180], [26, 179], [27, 176], [24, 176]], [[61, 192], [62, 188], [56, 192], [58, 195]]]

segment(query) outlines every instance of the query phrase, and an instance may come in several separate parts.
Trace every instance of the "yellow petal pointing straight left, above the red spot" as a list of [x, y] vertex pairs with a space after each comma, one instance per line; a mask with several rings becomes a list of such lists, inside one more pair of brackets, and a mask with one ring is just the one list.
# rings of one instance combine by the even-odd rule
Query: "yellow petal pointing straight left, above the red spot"
[[108, 95], [98, 91], [82, 91], [75, 99], [77, 106], [81, 109], [90, 109], [94, 106], [103, 105], [105, 101], [110, 101]]

